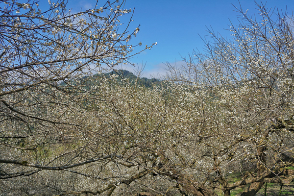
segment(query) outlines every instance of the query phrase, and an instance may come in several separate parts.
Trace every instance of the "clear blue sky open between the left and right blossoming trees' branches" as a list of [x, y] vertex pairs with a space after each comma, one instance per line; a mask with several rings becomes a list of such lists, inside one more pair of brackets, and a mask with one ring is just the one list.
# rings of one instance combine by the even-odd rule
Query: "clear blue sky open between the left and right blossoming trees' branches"
[[[69, 0], [69, 6], [77, 10], [80, 7], [90, 9], [95, 2]], [[204, 38], [208, 34], [207, 27], [229, 37], [230, 32], [225, 30], [229, 28], [229, 19], [238, 25], [238, 13], [233, 11], [235, 8], [231, 3], [240, 7], [238, 0], [126, 0], [125, 8], [135, 8], [130, 31], [141, 25], [137, 37], [133, 37], [131, 42], [142, 42], [143, 45], [158, 43], [153, 49], [132, 58], [131, 62], [139, 66], [146, 63], [143, 76], [149, 77], [157, 72], [164, 74], [167, 61], [181, 64], [181, 56], [188, 56], [193, 49], [203, 50], [200, 36]], [[294, 0], [267, 0], [263, 3], [268, 8], [276, 7], [283, 11], [287, 6], [289, 14], [294, 10]], [[240, 0], [240, 4], [244, 10], [248, 9], [248, 14], [257, 13], [254, 0]]]

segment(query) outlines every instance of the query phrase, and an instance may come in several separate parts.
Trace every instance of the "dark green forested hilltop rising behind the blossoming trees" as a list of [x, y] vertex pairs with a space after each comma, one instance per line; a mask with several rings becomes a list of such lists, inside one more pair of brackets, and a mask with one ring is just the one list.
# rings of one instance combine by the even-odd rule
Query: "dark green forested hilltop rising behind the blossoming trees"
[[[144, 85], [146, 87], [152, 87], [152, 85], [157, 85], [160, 83], [160, 80], [155, 79], [155, 78], [151, 78], [148, 79], [147, 77], [137, 77], [136, 75], [134, 75], [133, 73], [127, 71], [127, 70], [117, 70], [109, 72], [109, 73], [104, 73], [104, 75], [106, 77], [110, 77], [110, 75], [112, 74], [116, 74], [119, 75], [118, 80], [122, 80], [122, 79], [129, 79], [130, 83], [134, 83], [137, 81], [138, 84]], [[95, 76], [98, 76], [99, 74], [95, 74]]]

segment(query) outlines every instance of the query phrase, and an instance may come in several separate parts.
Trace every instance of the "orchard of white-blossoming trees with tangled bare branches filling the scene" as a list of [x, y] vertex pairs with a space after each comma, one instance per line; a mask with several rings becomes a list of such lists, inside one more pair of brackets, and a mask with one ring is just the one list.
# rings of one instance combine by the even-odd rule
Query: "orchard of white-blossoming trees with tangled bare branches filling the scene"
[[147, 87], [117, 71], [157, 44], [129, 44], [140, 29], [128, 28], [124, 0], [77, 13], [64, 0], [46, 10], [20, 1], [0, 1], [0, 195], [255, 196], [268, 183], [293, 186], [293, 16], [236, 7], [229, 40], [210, 31], [205, 52], [167, 64]]

